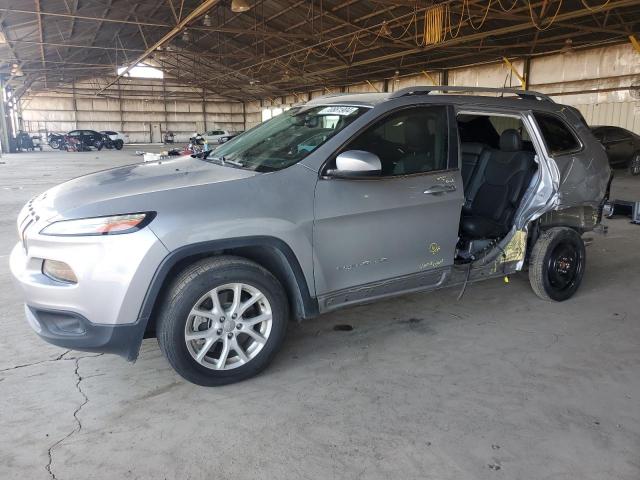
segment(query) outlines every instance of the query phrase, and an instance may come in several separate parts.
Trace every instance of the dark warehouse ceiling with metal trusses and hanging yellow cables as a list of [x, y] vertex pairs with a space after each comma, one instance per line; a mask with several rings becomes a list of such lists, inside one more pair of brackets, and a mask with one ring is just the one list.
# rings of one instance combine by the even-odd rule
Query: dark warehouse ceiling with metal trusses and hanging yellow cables
[[[5, 0], [0, 75], [19, 94], [139, 62], [230, 98], [628, 42], [639, 0]], [[240, 11], [245, 10], [245, 11]]]

